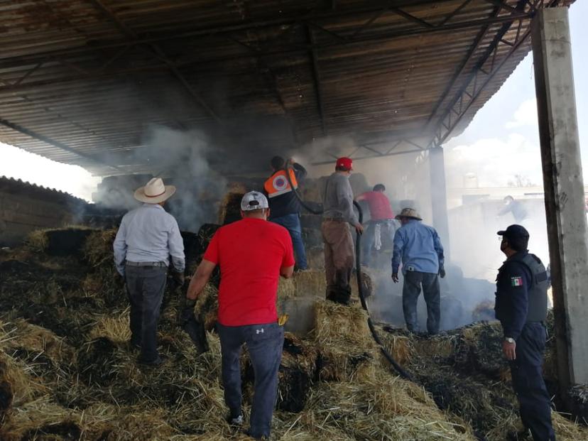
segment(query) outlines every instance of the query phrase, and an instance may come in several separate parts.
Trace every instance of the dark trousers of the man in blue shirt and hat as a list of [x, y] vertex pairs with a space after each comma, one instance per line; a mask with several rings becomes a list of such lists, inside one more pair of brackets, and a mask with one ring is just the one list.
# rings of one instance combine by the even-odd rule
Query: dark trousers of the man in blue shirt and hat
[[440, 288], [439, 277], [433, 273], [406, 271], [402, 287], [402, 307], [406, 327], [410, 332], [418, 332], [417, 301], [420, 287], [427, 304], [427, 330], [429, 334], [439, 332], [440, 320]]

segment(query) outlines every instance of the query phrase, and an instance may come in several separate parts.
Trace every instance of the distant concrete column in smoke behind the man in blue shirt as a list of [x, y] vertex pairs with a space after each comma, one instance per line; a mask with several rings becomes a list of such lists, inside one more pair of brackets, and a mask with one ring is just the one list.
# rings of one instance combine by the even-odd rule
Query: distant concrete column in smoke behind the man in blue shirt
[[443, 148], [429, 151], [429, 168], [431, 176], [431, 207], [433, 227], [439, 233], [445, 262], [450, 261], [449, 222], [447, 221], [447, 189], [445, 187], [445, 158]]

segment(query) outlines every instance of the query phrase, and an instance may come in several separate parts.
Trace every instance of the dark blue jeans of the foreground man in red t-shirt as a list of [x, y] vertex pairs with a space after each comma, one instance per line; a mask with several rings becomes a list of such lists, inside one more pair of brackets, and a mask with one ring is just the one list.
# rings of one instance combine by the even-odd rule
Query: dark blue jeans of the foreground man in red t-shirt
[[278, 397], [278, 371], [284, 347], [284, 328], [266, 325], [224, 326], [217, 324], [222, 353], [224, 402], [231, 417], [241, 415], [241, 347], [247, 345], [254, 368], [254, 398], [251, 405], [249, 435], [269, 437], [271, 417]]

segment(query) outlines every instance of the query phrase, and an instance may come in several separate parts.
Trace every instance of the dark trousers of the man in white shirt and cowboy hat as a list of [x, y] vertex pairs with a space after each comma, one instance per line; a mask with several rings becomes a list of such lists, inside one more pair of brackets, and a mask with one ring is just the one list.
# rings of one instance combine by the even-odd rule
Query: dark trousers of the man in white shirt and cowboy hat
[[154, 361], [157, 352], [157, 324], [168, 268], [126, 266], [126, 290], [131, 303], [131, 343], [141, 346], [141, 361]]

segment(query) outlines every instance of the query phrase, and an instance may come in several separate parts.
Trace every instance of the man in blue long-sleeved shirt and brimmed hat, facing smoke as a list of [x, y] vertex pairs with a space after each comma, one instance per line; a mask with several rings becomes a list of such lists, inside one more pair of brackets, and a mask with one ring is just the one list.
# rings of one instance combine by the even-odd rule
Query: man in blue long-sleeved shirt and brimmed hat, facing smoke
[[400, 220], [401, 227], [394, 234], [392, 280], [398, 283], [398, 268], [402, 259], [402, 307], [406, 327], [410, 332], [418, 332], [416, 306], [422, 286], [427, 303], [427, 330], [429, 334], [437, 334], [440, 322], [437, 275], [445, 277], [443, 246], [435, 229], [420, 223], [423, 219], [415, 209], [403, 209], [396, 219]]

